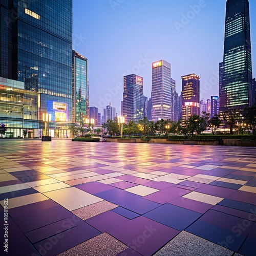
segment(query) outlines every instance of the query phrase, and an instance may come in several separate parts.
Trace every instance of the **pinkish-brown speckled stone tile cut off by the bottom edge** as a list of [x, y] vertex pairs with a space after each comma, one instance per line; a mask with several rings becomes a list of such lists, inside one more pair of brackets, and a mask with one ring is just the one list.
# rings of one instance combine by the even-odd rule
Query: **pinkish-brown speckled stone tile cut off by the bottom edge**
[[128, 246], [121, 243], [110, 234], [102, 233], [97, 237], [91, 238], [86, 242], [83, 242], [67, 251], [58, 254], [58, 256], [115, 256], [127, 248]]

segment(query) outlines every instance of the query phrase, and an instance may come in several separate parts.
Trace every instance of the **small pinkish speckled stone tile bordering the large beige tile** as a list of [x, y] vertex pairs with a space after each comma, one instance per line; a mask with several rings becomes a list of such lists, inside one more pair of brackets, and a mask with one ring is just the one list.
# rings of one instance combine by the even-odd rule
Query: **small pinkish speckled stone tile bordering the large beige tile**
[[118, 207], [118, 205], [104, 200], [77, 210], [73, 210], [72, 213], [82, 220], [88, 220], [94, 216], [102, 214], [105, 211], [115, 209], [116, 207]]

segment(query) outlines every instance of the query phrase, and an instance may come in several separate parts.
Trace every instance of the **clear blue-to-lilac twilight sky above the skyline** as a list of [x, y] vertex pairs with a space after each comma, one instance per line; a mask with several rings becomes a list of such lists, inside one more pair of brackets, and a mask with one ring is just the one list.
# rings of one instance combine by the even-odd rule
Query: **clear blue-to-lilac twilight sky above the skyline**
[[[256, 1], [250, 3], [252, 72], [256, 76]], [[121, 115], [123, 76], [144, 78], [151, 97], [152, 62], [171, 63], [176, 92], [181, 76], [196, 73], [200, 99], [219, 95], [226, 0], [73, 0], [73, 49], [88, 58], [90, 106], [112, 102]]]

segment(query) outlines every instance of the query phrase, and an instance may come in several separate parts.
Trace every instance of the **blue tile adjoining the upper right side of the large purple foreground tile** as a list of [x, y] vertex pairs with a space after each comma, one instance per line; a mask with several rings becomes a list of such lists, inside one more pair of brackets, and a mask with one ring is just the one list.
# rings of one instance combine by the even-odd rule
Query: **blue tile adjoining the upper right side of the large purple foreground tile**
[[182, 231], [196, 221], [201, 214], [176, 205], [164, 204], [143, 215], [146, 218]]

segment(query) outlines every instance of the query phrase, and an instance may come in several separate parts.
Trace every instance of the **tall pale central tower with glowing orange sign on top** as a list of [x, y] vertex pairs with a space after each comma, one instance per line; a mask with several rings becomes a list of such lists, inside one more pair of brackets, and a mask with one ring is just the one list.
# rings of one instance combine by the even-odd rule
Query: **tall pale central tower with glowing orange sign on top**
[[159, 60], [152, 63], [152, 121], [172, 118], [172, 89], [170, 63]]

